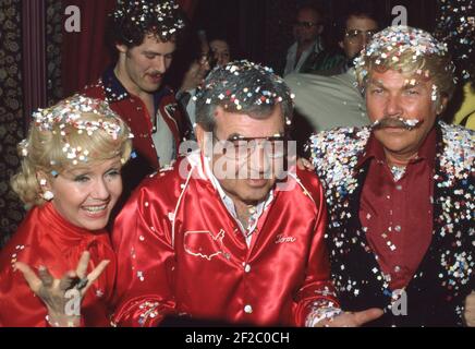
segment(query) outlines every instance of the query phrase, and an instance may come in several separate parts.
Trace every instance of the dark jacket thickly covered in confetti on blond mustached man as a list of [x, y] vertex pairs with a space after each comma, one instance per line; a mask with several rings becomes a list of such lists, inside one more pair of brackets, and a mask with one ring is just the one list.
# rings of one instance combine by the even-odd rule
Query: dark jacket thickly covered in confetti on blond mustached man
[[[394, 302], [358, 218], [368, 168], [355, 169], [370, 131], [336, 129], [310, 137], [316, 172], [326, 190], [326, 234], [331, 274], [346, 311], [385, 309], [374, 326], [460, 326], [465, 297], [475, 287], [474, 133], [439, 122], [434, 173], [433, 240], [405, 300]], [[392, 301], [391, 301], [392, 300]], [[397, 315], [397, 314], [400, 315]]]

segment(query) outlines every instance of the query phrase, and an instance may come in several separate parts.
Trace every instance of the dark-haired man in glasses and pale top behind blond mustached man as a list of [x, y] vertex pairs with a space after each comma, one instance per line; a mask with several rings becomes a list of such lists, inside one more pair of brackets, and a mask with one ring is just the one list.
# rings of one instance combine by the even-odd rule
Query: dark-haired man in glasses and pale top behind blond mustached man
[[[302, 118], [297, 140], [306, 140], [310, 130], [324, 131], [338, 127], [363, 127], [368, 123], [363, 96], [356, 87], [353, 59], [378, 31], [375, 9], [358, 5], [350, 9], [339, 21], [338, 44], [345, 60], [326, 71], [291, 74], [285, 82], [295, 93], [296, 111]], [[324, 56], [326, 52], [320, 52]], [[317, 58], [318, 60], [318, 58]], [[314, 64], [321, 67], [322, 64]], [[303, 68], [305, 70], [305, 67]], [[310, 74], [312, 73], [312, 74]], [[324, 76], [329, 75], [329, 76]]]

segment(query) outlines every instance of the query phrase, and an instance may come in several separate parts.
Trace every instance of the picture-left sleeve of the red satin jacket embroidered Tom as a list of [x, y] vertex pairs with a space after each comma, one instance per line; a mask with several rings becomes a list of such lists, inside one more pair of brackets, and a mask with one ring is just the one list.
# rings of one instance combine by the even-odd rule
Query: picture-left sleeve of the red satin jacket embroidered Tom
[[170, 229], [168, 213], [147, 188], [135, 192], [117, 218], [112, 236], [118, 254], [112, 322], [118, 326], [157, 326], [165, 315], [173, 313]]

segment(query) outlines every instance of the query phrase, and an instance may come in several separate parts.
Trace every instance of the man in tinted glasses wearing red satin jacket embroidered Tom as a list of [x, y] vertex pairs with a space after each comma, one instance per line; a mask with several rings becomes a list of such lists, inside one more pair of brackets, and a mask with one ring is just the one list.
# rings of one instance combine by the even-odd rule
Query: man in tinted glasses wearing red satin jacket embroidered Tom
[[[317, 177], [295, 170], [292, 95], [269, 68], [235, 61], [197, 95], [199, 148], [143, 182], [119, 215], [113, 323], [167, 315], [318, 326], [341, 313], [328, 279]], [[340, 314], [333, 325], [380, 316]]]

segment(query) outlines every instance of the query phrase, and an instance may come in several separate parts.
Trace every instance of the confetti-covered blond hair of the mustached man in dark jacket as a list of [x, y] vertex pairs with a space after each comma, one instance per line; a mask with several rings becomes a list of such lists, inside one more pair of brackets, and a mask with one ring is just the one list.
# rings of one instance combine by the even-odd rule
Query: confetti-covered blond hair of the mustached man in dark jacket
[[377, 33], [355, 60], [356, 80], [365, 92], [373, 71], [395, 70], [405, 76], [433, 81], [433, 100], [452, 98], [455, 67], [442, 43], [429, 33], [410, 26], [390, 26]]

